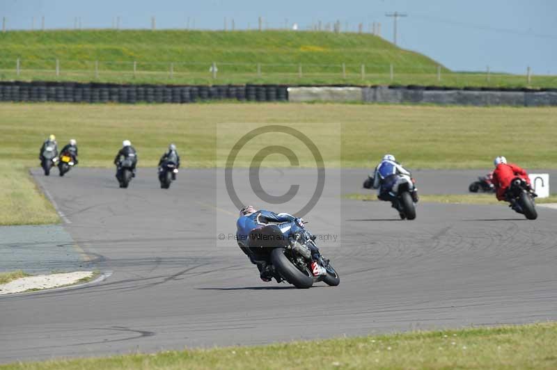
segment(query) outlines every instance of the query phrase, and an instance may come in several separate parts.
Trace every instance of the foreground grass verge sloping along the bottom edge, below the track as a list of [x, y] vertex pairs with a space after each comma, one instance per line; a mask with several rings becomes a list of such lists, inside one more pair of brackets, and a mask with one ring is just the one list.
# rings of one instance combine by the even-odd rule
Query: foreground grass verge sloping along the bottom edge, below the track
[[557, 323], [48, 360], [0, 369], [555, 369]]

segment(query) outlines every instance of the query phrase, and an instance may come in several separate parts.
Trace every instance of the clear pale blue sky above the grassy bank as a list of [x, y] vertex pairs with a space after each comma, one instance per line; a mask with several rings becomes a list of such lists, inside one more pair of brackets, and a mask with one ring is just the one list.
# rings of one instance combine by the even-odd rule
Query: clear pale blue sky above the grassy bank
[[[456, 71], [557, 74], [557, 1], [554, 0], [0, 0], [0, 17], [10, 29], [31, 29], [45, 17], [47, 29], [72, 29], [75, 17], [83, 28], [110, 28], [120, 17], [120, 29], [223, 29], [234, 19], [236, 29], [256, 28], [258, 17], [272, 28], [340, 20], [351, 31], [359, 23], [369, 30], [381, 23], [382, 37], [418, 51]], [[0, 49], [1, 57], [1, 49]]]

